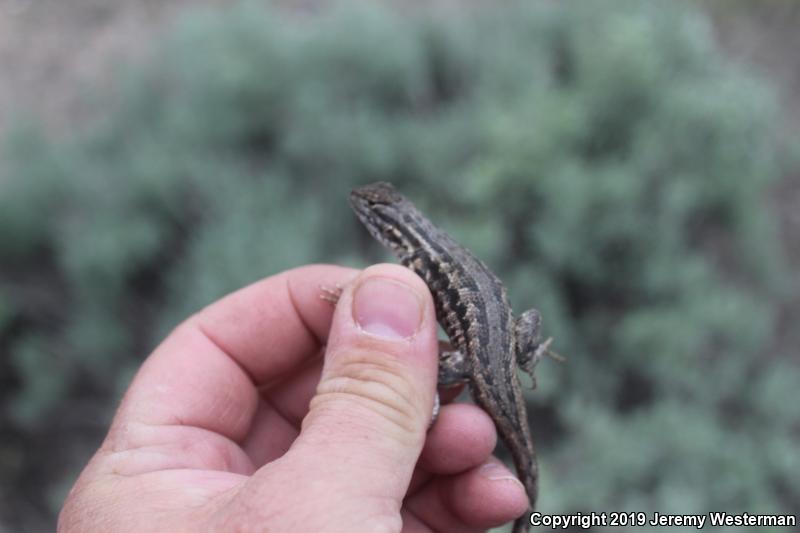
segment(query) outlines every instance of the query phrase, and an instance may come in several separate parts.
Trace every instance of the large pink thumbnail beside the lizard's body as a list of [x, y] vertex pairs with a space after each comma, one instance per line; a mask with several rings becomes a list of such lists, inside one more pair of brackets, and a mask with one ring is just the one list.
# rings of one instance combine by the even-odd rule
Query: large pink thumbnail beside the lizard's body
[[414, 290], [387, 278], [370, 278], [356, 287], [353, 318], [376, 337], [407, 339], [422, 321], [422, 302]]

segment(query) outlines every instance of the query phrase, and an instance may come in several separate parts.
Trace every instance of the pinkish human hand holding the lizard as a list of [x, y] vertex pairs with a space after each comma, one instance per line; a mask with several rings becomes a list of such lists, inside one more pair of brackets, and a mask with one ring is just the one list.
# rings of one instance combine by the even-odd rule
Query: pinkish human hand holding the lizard
[[[345, 286], [335, 309], [320, 286]], [[322, 357], [324, 355], [324, 357]], [[71, 490], [60, 533], [479, 531], [527, 507], [472, 405], [442, 407], [410, 270], [309, 266], [178, 326]]]

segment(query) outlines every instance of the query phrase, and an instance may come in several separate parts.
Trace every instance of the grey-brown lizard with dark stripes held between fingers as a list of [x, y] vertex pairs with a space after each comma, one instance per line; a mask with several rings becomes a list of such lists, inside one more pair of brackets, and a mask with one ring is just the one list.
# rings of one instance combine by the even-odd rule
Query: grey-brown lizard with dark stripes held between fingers
[[350, 204], [369, 233], [430, 289], [437, 321], [453, 347], [439, 355], [438, 385], [467, 383], [475, 403], [492, 418], [529, 500], [513, 531], [528, 531], [539, 468], [517, 368], [535, 386], [534, 367], [550, 353], [552, 341], [540, 339], [541, 314], [529, 309], [514, 317], [506, 289], [492, 271], [391, 184], [354, 189]]

